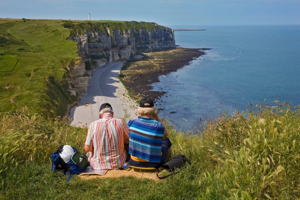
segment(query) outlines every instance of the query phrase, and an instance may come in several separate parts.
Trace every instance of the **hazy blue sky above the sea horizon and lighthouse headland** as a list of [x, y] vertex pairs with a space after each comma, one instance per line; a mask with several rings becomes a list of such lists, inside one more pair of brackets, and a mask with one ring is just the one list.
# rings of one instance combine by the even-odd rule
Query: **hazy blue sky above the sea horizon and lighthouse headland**
[[300, 0], [0, 0], [0, 18], [88, 19], [160, 25], [300, 24]]

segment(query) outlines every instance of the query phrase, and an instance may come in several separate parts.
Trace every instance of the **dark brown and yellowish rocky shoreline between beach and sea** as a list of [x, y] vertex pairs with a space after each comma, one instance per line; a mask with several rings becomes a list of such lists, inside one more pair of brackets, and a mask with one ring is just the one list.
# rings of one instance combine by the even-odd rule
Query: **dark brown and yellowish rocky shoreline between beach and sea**
[[120, 72], [120, 79], [135, 99], [149, 96], [159, 100], [165, 92], [151, 91], [151, 84], [159, 82], [159, 76], [177, 71], [204, 55], [204, 50], [209, 49], [176, 48], [147, 53], [142, 59], [125, 63]]

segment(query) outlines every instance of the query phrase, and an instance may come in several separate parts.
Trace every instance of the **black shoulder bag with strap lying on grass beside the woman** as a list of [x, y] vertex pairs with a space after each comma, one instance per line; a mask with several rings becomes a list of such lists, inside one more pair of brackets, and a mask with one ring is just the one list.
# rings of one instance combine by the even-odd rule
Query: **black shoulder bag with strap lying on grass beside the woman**
[[[166, 169], [168, 172], [173, 172], [176, 169], [183, 168], [187, 163], [191, 164], [189, 160], [184, 155], [178, 155], [175, 157], [170, 158], [165, 164], [161, 165], [162, 168]], [[169, 176], [172, 176], [174, 174], [177, 174], [177, 172], [173, 172], [172, 174], [169, 174], [167, 176], [159, 177], [158, 172], [156, 172], [156, 176], [159, 179], [168, 178]]]

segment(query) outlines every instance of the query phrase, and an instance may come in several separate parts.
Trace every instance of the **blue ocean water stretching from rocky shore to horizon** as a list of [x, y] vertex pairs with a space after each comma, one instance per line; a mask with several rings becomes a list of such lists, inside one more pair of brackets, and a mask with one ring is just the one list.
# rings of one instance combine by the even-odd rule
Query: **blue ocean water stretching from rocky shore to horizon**
[[[300, 25], [174, 26], [176, 44], [212, 48], [190, 65], [160, 76], [154, 90], [167, 91], [157, 107], [177, 128], [201, 125], [222, 109], [247, 109], [259, 101], [300, 104]], [[219, 102], [220, 101], [220, 102]]]

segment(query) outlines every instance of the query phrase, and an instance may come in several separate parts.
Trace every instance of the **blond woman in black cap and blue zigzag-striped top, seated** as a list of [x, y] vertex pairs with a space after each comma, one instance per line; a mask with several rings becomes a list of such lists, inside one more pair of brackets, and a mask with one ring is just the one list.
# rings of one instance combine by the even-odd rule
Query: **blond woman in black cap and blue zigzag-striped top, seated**
[[[145, 97], [137, 110], [139, 119], [130, 120], [129, 154], [130, 164], [135, 167], [158, 168], [171, 153], [168, 133], [157, 115], [152, 99]], [[155, 118], [152, 119], [152, 118]]]

